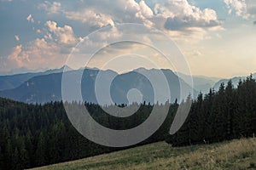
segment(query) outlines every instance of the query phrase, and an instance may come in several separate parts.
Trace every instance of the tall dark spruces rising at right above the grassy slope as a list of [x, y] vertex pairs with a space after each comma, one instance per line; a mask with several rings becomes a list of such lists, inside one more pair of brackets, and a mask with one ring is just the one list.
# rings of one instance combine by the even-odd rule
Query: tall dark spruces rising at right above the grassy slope
[[252, 76], [240, 81], [222, 83], [199, 94], [192, 103], [189, 116], [179, 131], [166, 138], [173, 146], [208, 144], [229, 139], [254, 137], [256, 134], [256, 82]]

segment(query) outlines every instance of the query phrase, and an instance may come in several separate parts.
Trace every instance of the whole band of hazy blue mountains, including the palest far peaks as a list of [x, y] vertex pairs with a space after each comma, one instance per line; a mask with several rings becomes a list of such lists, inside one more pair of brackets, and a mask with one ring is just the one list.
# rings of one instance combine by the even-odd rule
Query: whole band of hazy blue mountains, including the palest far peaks
[[[0, 97], [14, 99], [26, 103], [40, 104], [44, 104], [50, 101], [60, 101], [61, 78], [63, 69], [64, 66], [60, 69], [38, 73], [1, 76]], [[82, 71], [73, 71], [72, 69], [67, 70], [71, 77], [76, 77], [76, 75], [79, 73], [78, 71]], [[189, 87], [189, 76], [180, 73], [179, 79], [177, 75], [170, 70], [146, 70], [144, 68], [140, 68], [135, 71], [130, 71], [120, 75], [115, 71], [101, 71], [103, 78], [106, 78], [106, 81], [110, 75], [115, 77], [110, 87], [110, 94], [114, 103], [128, 104], [129, 101], [126, 95], [131, 88], [137, 88], [141, 94], [143, 94], [143, 101], [155, 103], [154, 88], [148, 81], [147, 77], [144, 77], [142, 74], [138, 73], [139, 71], [145, 71], [148, 75], [151, 75], [155, 78], [157, 78], [157, 75], [162, 71], [169, 83], [171, 102], [173, 102], [175, 99], [179, 100], [185, 98], [185, 96], [180, 96], [180, 82], [183, 84], [183, 89], [185, 89], [184, 94], [188, 95], [193, 93], [194, 96], [196, 96], [199, 92], [206, 94], [212, 87], [218, 89], [217, 87], [221, 82], [229, 81], [225, 79], [218, 81], [218, 78], [214, 77], [193, 77], [194, 90], [193, 92], [190, 92], [191, 87]], [[98, 73], [98, 69], [84, 69], [81, 81], [81, 92], [84, 101], [97, 103], [95, 94], [95, 82]], [[236, 79], [237, 78], [233, 80], [235, 85], [237, 83]], [[104, 96], [101, 97], [104, 98]]]

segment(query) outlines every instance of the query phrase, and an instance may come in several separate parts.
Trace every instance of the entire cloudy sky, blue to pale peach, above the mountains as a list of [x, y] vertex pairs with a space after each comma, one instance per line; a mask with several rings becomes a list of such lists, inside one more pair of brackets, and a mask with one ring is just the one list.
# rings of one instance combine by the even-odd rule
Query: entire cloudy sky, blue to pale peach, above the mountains
[[[83, 66], [79, 55], [88, 60], [92, 49], [90, 67], [175, 70], [175, 61], [166, 64], [160, 50], [145, 45], [152, 39], [160, 48], [171, 44], [170, 53], [178, 48], [193, 75], [256, 72], [255, 0], [0, 0], [0, 22], [0, 75], [60, 68], [71, 55], [79, 65], [70, 66]], [[144, 43], [119, 42], [127, 37]]]

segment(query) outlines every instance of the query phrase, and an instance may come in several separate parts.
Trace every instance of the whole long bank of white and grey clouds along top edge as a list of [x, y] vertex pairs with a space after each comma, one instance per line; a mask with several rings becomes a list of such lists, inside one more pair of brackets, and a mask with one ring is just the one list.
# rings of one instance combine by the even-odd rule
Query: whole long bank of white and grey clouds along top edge
[[128, 22], [156, 26], [162, 30], [188, 31], [187, 28], [191, 27], [207, 29], [221, 25], [215, 10], [201, 10], [188, 0], [167, 0], [151, 7], [143, 0], [89, 0], [79, 4], [75, 10], [61, 8], [61, 3], [56, 2], [46, 1], [39, 6], [49, 14], [63, 14], [68, 20], [79, 20], [89, 28]]

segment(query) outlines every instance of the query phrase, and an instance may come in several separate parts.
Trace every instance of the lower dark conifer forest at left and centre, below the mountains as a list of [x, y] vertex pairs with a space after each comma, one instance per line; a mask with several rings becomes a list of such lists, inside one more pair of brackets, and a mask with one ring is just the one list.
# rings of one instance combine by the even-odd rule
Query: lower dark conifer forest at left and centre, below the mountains
[[[143, 103], [134, 115], [117, 118], [106, 114], [99, 105], [86, 103], [85, 106], [97, 122], [113, 129], [136, 127], [148, 118], [153, 108]], [[165, 139], [177, 104], [170, 108], [166, 122], [141, 144]], [[61, 102], [27, 105], [0, 99], [0, 169], [40, 167], [122, 149], [125, 148], [105, 147], [85, 139], [69, 122]]]

